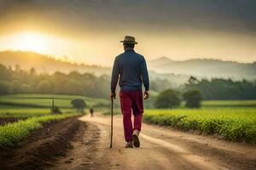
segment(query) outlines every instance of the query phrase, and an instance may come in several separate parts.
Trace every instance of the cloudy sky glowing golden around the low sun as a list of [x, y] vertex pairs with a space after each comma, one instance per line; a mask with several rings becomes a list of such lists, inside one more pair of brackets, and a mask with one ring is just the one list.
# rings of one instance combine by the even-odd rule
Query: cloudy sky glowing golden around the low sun
[[254, 0], [1, 0], [0, 50], [112, 65], [125, 35], [146, 59], [256, 61]]

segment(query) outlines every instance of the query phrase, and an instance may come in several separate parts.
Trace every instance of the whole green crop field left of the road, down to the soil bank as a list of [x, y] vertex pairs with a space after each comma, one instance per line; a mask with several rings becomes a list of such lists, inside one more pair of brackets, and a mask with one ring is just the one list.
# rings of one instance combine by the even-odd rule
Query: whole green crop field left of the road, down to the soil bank
[[[61, 115], [50, 114], [52, 102], [61, 109]], [[83, 96], [51, 94], [16, 94], [0, 96], [0, 146], [16, 144], [44, 122], [64, 119], [78, 114], [73, 109], [73, 99], [84, 99], [87, 106], [104, 106], [104, 99]], [[104, 103], [105, 102], [105, 103]]]

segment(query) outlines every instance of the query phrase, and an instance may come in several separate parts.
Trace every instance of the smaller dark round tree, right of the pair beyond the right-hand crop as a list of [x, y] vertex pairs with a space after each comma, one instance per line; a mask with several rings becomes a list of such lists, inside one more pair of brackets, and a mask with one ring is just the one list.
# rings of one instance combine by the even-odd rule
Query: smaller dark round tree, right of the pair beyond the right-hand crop
[[183, 94], [183, 99], [186, 101], [185, 106], [189, 108], [201, 107], [201, 92], [199, 90], [189, 90]]

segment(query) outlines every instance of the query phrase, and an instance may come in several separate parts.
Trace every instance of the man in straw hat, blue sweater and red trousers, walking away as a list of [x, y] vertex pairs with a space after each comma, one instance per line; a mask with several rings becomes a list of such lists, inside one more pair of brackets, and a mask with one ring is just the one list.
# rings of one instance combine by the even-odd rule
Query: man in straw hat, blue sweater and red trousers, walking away
[[[139, 147], [138, 136], [142, 127], [143, 98], [149, 98], [148, 69], [143, 55], [134, 51], [134, 46], [137, 44], [135, 37], [125, 36], [125, 40], [120, 42], [123, 42], [125, 52], [114, 59], [110, 97], [115, 99], [115, 88], [119, 80], [119, 99], [127, 142], [125, 147], [132, 148], [133, 145]], [[142, 83], [145, 88], [144, 96]], [[131, 122], [131, 111], [134, 116], [134, 127]]]

